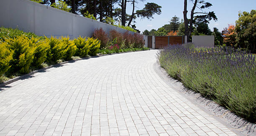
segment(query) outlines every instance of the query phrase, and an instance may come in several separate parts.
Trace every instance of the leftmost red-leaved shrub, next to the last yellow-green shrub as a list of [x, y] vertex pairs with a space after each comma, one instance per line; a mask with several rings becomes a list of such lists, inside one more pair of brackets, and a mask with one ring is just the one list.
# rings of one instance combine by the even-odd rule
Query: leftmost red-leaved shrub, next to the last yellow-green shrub
[[108, 35], [106, 32], [100, 27], [100, 29], [95, 29], [92, 37], [100, 40], [100, 48], [106, 47], [108, 42]]

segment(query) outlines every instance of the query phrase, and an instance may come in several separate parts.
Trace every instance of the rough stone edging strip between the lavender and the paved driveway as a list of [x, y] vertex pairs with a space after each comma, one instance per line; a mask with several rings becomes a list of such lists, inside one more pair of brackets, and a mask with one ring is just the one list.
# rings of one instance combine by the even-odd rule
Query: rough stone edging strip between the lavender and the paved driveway
[[181, 94], [194, 101], [195, 104], [200, 105], [202, 109], [205, 109], [208, 111], [208, 113], [213, 114], [219, 118], [220, 121], [224, 122], [234, 131], [238, 132], [239, 136], [256, 136], [256, 124], [251, 123], [241, 118], [240, 116], [237, 116], [225, 107], [220, 106], [216, 102], [205, 98], [200, 93], [197, 93], [191, 89], [187, 89], [181, 82], [170, 77], [169, 74], [159, 66], [159, 64], [155, 63], [154, 69], [157, 71], [159, 76], [163, 78], [167, 84], [170, 85], [170, 87], [178, 90]]

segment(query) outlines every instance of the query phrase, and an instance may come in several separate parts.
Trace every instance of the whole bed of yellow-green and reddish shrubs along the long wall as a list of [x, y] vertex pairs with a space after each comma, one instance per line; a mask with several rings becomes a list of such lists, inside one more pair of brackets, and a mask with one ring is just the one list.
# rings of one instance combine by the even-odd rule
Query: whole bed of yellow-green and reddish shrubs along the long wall
[[100, 28], [93, 37], [69, 40], [0, 27], [0, 83], [69, 60], [148, 49], [143, 46], [143, 36], [128, 31], [111, 30], [108, 37]]

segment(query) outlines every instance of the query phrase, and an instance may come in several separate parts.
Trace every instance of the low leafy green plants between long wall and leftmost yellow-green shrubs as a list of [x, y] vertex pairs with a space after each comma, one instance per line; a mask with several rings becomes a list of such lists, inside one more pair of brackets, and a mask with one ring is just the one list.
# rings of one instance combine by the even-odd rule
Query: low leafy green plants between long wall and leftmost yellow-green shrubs
[[[18, 26], [17, 26], [18, 27]], [[19, 36], [25, 36], [31, 39], [31, 37], [39, 37], [32, 32], [23, 32], [18, 29], [0, 27], [0, 41], [5, 42], [6, 39], [14, 39]], [[44, 37], [39, 37], [43, 40]]]

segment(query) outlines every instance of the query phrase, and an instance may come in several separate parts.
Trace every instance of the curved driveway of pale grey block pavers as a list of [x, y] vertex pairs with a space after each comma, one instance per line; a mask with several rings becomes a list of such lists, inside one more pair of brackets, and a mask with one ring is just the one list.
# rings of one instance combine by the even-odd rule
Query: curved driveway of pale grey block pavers
[[9, 84], [0, 136], [235, 136], [159, 77], [155, 54], [80, 60]]

